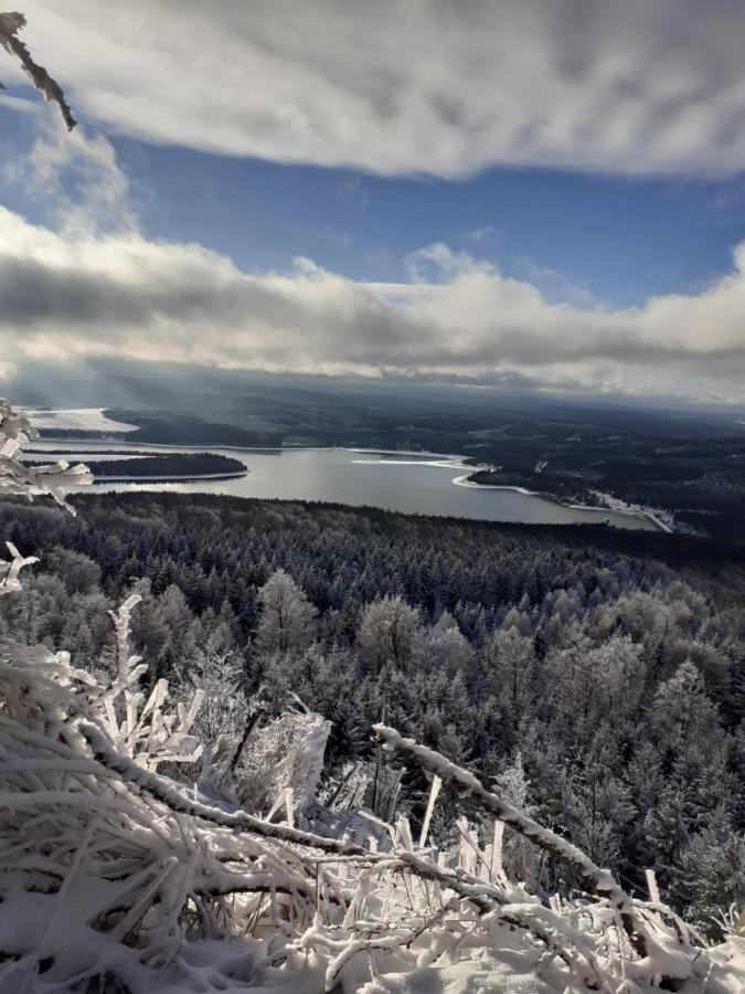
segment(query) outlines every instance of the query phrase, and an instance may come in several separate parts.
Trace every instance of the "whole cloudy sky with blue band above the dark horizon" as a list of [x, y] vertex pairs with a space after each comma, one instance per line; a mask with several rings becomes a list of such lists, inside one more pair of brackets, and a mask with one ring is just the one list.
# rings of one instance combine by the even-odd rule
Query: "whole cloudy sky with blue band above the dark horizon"
[[0, 374], [102, 358], [745, 406], [742, 0], [28, 0]]

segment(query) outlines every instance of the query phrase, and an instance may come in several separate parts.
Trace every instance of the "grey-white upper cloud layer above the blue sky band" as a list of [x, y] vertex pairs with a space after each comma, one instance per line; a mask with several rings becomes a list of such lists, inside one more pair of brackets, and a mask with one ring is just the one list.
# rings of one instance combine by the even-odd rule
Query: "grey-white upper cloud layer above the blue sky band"
[[389, 175], [745, 168], [742, 0], [23, 9], [76, 109], [156, 142]]

